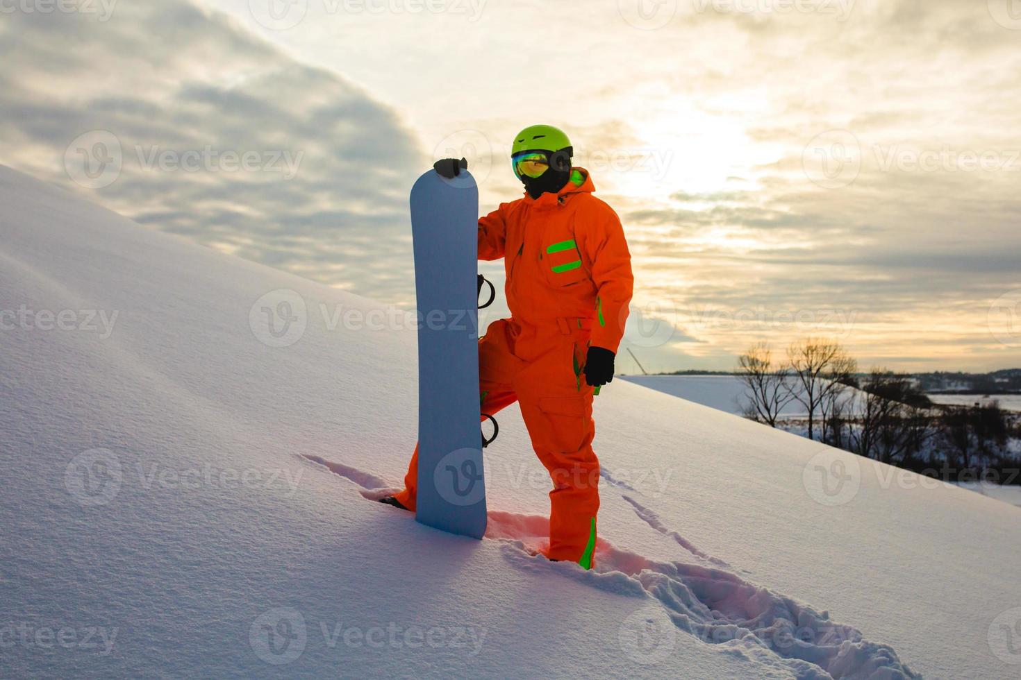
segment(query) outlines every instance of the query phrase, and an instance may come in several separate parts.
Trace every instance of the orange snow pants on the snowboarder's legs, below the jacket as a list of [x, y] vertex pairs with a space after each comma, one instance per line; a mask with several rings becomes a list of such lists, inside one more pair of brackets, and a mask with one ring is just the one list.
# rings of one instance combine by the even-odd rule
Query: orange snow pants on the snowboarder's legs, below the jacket
[[[599, 461], [592, 451], [593, 390], [581, 372], [590, 324], [589, 319], [556, 319], [536, 328], [500, 319], [479, 339], [482, 413], [492, 415], [518, 402], [532, 447], [552, 480], [546, 557], [578, 562], [586, 569], [593, 564], [599, 510]], [[418, 464], [416, 447], [404, 490], [396, 496], [411, 511]]]

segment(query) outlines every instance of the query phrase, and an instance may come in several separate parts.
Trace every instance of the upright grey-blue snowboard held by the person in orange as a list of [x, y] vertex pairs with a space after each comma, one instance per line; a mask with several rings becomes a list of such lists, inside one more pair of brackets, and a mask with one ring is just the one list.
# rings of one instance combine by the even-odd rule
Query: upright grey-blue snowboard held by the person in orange
[[420, 319], [416, 519], [481, 538], [478, 187], [468, 170], [452, 179], [429, 170], [411, 188], [410, 206]]

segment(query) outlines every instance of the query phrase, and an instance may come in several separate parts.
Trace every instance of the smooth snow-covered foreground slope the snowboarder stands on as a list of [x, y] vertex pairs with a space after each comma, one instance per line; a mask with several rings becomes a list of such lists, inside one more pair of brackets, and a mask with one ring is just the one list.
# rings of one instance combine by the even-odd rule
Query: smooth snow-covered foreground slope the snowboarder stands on
[[488, 537], [443, 534], [370, 501], [392, 310], [2, 166], [0, 206], [5, 677], [1017, 675], [1017, 508], [619, 380], [594, 572], [533, 555], [515, 409]]

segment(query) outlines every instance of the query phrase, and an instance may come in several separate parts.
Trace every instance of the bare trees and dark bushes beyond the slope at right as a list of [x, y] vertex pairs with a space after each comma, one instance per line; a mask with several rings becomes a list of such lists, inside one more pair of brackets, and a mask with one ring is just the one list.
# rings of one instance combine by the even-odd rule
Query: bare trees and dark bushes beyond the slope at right
[[944, 481], [1021, 484], [1018, 417], [995, 402], [933, 404], [910, 375], [882, 367], [867, 374], [837, 342], [807, 338], [776, 358], [757, 343], [738, 358], [744, 416], [778, 427], [791, 404], [804, 407], [808, 436]]

